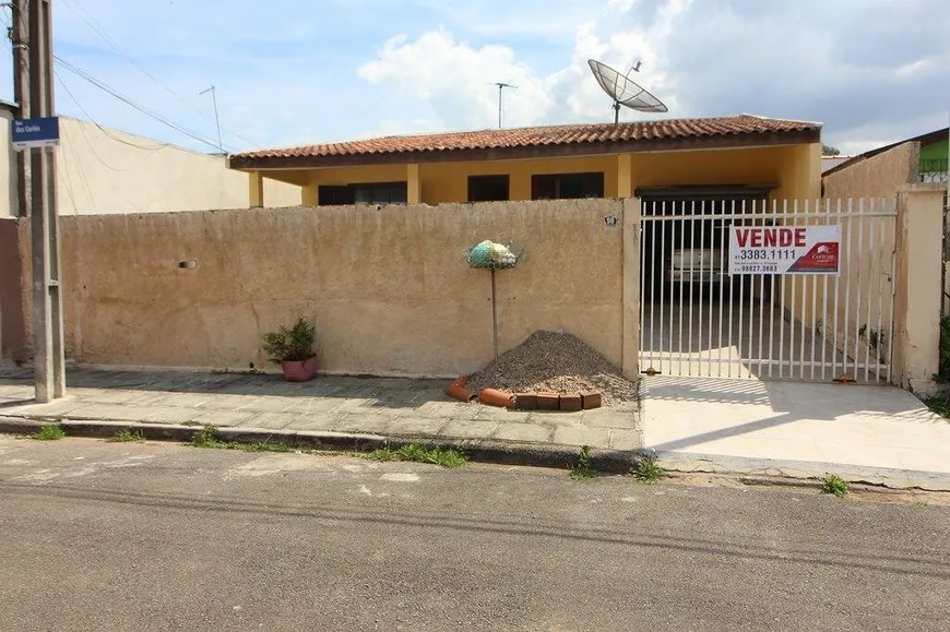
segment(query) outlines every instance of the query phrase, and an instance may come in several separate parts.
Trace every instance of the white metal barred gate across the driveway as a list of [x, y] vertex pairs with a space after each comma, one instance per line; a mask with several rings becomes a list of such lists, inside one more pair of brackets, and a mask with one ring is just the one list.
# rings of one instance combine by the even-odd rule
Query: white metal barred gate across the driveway
[[[728, 272], [734, 226], [839, 226], [836, 275]], [[895, 200], [644, 199], [648, 374], [889, 383]]]

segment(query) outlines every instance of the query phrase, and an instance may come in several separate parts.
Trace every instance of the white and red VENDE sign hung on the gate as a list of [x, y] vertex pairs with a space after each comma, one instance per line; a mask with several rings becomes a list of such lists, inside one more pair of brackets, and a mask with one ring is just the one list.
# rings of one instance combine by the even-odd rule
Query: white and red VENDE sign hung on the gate
[[733, 226], [729, 274], [838, 274], [841, 226]]

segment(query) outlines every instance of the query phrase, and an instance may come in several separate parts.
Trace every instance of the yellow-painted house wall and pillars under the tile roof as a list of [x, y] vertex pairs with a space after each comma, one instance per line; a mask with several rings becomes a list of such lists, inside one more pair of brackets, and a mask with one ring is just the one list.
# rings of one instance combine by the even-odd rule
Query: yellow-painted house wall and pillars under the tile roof
[[[821, 187], [818, 143], [732, 150], [651, 152], [577, 158], [425, 163], [418, 166], [421, 201], [426, 204], [466, 202], [468, 176], [508, 175], [510, 199], [531, 199], [536, 174], [604, 172], [607, 198], [628, 196], [638, 187], [687, 184], [775, 184], [776, 198], [817, 198]], [[622, 176], [621, 176], [622, 172]], [[266, 171], [264, 172], [266, 175]], [[308, 202], [320, 184], [408, 180], [408, 165], [313, 169]]]

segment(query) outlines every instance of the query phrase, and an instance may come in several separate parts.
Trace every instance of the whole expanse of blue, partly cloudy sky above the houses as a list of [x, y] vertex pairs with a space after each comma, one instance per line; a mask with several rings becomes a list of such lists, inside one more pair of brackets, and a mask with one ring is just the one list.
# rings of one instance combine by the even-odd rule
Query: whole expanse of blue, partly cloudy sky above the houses
[[[642, 60], [637, 76], [667, 103], [666, 116], [818, 120], [826, 142], [845, 152], [950, 117], [950, 11], [941, 0], [54, 4], [58, 56], [211, 140], [211, 97], [199, 93], [214, 84], [231, 151], [490, 128], [497, 81], [519, 86], [506, 93], [507, 126], [610, 120], [590, 57], [618, 67]], [[10, 100], [9, 43], [2, 50], [0, 97]], [[210, 150], [64, 68], [58, 76], [60, 114]]]

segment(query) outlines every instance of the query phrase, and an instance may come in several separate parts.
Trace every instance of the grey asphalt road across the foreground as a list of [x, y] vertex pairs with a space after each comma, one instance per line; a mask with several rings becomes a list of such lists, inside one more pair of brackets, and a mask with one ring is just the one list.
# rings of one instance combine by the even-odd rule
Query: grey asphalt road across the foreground
[[950, 629], [950, 509], [0, 438], [0, 630]]

